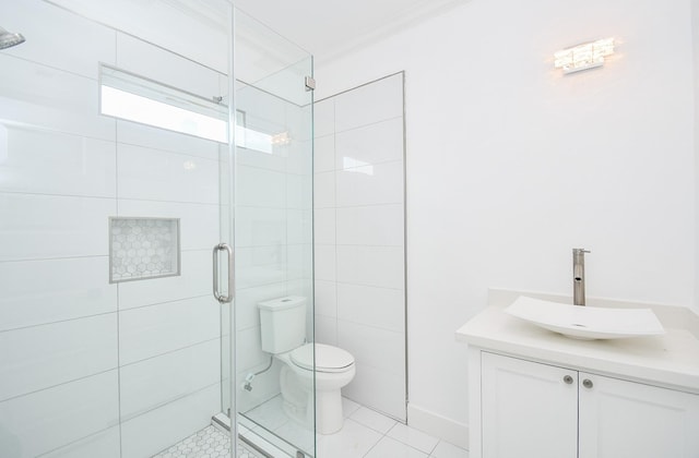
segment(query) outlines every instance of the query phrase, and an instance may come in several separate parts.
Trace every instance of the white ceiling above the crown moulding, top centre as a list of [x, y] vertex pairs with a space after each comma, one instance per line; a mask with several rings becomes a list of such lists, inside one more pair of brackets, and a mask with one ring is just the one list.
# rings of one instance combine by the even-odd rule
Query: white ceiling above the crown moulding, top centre
[[234, 3], [322, 62], [466, 1], [234, 0]]

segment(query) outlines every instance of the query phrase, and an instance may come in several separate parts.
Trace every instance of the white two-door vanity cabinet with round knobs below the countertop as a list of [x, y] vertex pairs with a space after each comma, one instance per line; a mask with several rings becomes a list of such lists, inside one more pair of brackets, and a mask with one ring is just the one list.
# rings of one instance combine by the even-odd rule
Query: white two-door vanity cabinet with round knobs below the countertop
[[699, 457], [699, 395], [470, 353], [471, 458]]

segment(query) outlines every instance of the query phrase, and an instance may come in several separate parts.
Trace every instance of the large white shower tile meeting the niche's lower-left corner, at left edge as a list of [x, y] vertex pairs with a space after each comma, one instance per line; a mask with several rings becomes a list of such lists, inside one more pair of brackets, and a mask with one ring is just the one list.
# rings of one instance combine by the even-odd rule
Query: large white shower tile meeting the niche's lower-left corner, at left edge
[[117, 310], [107, 256], [0, 263], [0, 330]]

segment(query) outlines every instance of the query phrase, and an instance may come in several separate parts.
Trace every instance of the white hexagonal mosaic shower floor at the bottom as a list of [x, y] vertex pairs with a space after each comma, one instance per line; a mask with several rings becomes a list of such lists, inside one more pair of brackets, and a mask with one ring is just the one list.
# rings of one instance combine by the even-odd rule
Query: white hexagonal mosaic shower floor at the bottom
[[[153, 458], [229, 458], [230, 436], [210, 425], [186, 439], [154, 455]], [[262, 458], [238, 444], [237, 458]]]

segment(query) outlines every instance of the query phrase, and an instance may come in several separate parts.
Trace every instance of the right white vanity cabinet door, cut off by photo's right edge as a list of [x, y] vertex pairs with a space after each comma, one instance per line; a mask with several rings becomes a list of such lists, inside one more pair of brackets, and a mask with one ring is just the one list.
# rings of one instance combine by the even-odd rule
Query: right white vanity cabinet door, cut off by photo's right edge
[[699, 457], [699, 396], [583, 372], [579, 381], [580, 458]]

